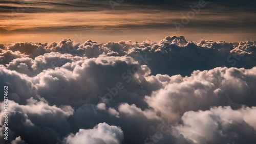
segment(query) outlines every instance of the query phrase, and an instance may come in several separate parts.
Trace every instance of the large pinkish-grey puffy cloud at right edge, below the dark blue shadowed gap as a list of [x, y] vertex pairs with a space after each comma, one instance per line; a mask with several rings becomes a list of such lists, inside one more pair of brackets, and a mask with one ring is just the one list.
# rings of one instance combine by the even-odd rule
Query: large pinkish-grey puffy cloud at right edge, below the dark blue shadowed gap
[[256, 67], [217, 67], [194, 71], [190, 77], [170, 77], [163, 89], [145, 97], [149, 106], [163, 117], [179, 120], [184, 112], [212, 106], [255, 106]]

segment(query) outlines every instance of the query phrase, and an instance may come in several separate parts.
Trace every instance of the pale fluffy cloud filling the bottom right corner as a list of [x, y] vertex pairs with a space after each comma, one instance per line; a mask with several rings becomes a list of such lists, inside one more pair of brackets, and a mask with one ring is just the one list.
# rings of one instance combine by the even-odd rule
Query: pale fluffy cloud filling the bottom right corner
[[255, 143], [256, 107], [214, 107], [207, 111], [188, 111], [178, 133], [195, 143]]

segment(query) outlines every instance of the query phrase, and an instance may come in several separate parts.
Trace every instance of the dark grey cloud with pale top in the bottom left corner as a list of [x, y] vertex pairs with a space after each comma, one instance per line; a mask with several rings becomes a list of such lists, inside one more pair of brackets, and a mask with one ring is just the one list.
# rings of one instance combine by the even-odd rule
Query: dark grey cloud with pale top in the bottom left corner
[[[27, 101], [27, 105], [8, 102], [8, 128], [15, 133], [14, 136], [20, 136], [28, 143], [53, 143], [56, 137], [70, 132], [67, 118], [74, 112], [70, 106], [49, 106], [44, 100], [37, 101], [32, 98]], [[4, 104], [0, 104], [1, 127], [4, 125], [6, 114]], [[12, 142], [21, 142], [19, 138]]]

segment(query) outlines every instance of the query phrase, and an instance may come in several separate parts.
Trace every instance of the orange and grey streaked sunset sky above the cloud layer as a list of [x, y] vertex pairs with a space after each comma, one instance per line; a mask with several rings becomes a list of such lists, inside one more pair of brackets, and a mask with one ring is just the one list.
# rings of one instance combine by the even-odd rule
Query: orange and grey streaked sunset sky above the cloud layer
[[0, 42], [89, 37], [98, 42], [142, 42], [148, 38], [159, 41], [166, 35], [186, 35], [193, 41], [255, 39], [254, 1], [206, 1], [199, 12], [190, 13], [193, 17], [188, 22], [184, 16], [193, 12], [190, 7], [199, 6], [199, 1], [118, 2], [1, 0]]

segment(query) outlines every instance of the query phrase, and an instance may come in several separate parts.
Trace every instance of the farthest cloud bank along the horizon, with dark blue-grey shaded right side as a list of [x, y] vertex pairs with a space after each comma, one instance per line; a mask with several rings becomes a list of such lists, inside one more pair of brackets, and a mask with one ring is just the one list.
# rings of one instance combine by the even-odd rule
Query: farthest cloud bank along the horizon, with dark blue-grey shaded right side
[[[151, 68], [153, 75], [180, 74], [184, 76], [198, 69], [205, 70], [219, 66], [251, 68], [256, 64], [254, 59], [255, 42], [253, 41], [231, 43], [201, 40], [200, 42], [192, 42], [187, 41], [184, 36], [168, 36], [159, 43], [152, 42], [150, 39], [142, 43], [119, 41], [118, 43], [108, 42], [105, 44], [98, 44], [92, 40], [77, 43], [71, 39], [65, 39], [58, 43], [9, 44], [5, 45], [3, 50], [19, 51], [33, 59], [51, 52], [87, 58], [96, 58], [100, 55], [130, 56], [137, 61], [141, 60], [140, 56], [143, 56], [154, 58], [152, 61], [144, 63]], [[2, 59], [6, 59], [5, 56], [2, 57]], [[1, 62], [1, 64], [4, 63], [7, 62]]]

